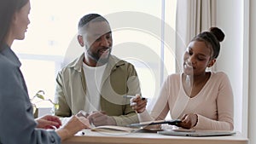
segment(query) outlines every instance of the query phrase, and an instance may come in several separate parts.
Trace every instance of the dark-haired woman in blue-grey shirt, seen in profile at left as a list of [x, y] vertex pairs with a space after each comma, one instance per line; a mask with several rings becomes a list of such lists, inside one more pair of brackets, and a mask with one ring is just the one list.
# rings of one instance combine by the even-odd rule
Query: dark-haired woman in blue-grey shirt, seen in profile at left
[[[29, 0], [0, 1], [0, 143], [61, 143], [90, 126], [88, 119], [73, 116], [61, 127], [61, 120], [46, 115], [34, 120], [20, 60], [11, 49], [15, 39], [25, 38], [30, 23]], [[59, 128], [58, 130], [46, 130]], [[60, 128], [61, 127], [61, 128]]]

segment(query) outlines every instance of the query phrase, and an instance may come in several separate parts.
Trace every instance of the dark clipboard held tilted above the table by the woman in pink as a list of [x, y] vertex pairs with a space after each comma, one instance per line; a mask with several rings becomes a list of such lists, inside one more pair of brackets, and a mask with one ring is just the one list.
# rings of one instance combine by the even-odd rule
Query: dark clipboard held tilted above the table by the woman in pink
[[127, 127], [133, 127], [133, 128], [139, 128], [143, 126], [148, 125], [154, 125], [154, 124], [170, 124], [170, 125], [177, 125], [181, 123], [182, 121], [180, 119], [173, 119], [173, 120], [157, 120], [157, 121], [150, 121], [150, 122], [143, 122], [138, 124], [129, 124], [126, 125]]

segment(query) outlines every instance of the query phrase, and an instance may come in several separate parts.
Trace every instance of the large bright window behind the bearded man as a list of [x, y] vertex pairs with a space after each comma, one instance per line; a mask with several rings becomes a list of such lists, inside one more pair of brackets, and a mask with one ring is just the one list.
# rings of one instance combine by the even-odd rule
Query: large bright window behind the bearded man
[[[77, 55], [68, 50], [83, 52], [76, 40], [77, 26], [89, 13], [108, 19], [113, 30], [112, 54], [136, 66], [145, 97], [158, 95], [167, 74], [175, 72], [174, 51], [166, 43], [170, 37], [165, 36], [175, 27], [176, 0], [44, 0], [31, 4], [26, 39], [13, 45], [31, 97], [42, 89], [54, 98], [56, 73], [65, 60]], [[42, 103], [39, 107], [49, 106]]]

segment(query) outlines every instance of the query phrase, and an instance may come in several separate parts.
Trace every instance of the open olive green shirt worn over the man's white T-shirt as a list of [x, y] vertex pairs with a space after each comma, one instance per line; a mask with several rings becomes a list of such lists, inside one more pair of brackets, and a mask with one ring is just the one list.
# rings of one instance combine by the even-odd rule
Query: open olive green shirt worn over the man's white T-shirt
[[[84, 77], [84, 54], [63, 67], [56, 78], [55, 101], [59, 109], [55, 115], [70, 117], [86, 109], [86, 81], [93, 80]], [[107, 67], [102, 76], [100, 87], [100, 104], [102, 111], [113, 116], [117, 125], [138, 123], [137, 114], [130, 106], [130, 100], [123, 95], [141, 94], [137, 72], [131, 63], [110, 55]]]

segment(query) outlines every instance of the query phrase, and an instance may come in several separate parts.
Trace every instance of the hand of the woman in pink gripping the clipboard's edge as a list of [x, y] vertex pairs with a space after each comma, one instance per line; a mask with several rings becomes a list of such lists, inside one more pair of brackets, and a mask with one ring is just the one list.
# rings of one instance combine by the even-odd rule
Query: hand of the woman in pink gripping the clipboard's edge
[[181, 120], [182, 123], [179, 123], [177, 126], [184, 129], [191, 129], [197, 124], [198, 116], [195, 113], [184, 114]]

